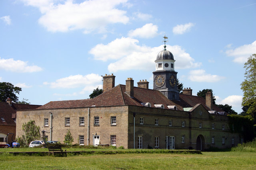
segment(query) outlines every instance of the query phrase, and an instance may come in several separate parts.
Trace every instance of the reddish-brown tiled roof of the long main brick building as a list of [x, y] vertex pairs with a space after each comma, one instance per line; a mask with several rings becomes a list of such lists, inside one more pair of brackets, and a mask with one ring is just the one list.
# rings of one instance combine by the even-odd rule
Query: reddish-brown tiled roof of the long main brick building
[[[91, 107], [91, 106], [142, 106], [141, 103], [149, 102], [151, 107], [155, 107], [154, 104], [163, 104], [164, 108], [167, 106], [176, 106], [178, 110], [183, 111], [183, 107], [194, 107], [196, 104], [202, 104], [206, 110], [210, 110], [205, 105], [205, 99], [198, 96], [190, 96], [186, 94], [180, 94], [180, 100], [169, 100], [158, 90], [145, 89], [134, 87], [134, 98], [130, 98], [125, 93], [125, 85], [117, 85], [114, 88], [100, 94], [93, 99], [84, 100], [65, 100], [49, 102], [44, 106], [37, 109], [60, 109], [60, 108], [76, 108], [76, 107]], [[222, 111], [222, 109], [213, 105], [213, 109], [216, 111]]]

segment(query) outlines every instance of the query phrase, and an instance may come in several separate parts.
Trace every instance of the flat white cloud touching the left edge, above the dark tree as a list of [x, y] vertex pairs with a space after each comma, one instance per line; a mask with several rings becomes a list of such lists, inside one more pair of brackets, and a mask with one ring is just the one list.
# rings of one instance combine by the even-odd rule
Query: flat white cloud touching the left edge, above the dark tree
[[8, 70], [12, 72], [38, 72], [42, 71], [39, 66], [28, 66], [27, 61], [20, 61], [14, 59], [1, 59], [0, 70]]

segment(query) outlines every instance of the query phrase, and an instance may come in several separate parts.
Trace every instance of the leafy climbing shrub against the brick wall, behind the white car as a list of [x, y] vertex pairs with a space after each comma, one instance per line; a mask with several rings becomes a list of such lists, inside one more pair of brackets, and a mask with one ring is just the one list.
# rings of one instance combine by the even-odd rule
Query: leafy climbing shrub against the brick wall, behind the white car
[[20, 145], [29, 145], [32, 141], [40, 140], [40, 127], [36, 126], [34, 120], [23, 123], [22, 130], [25, 135], [18, 137], [17, 141]]

